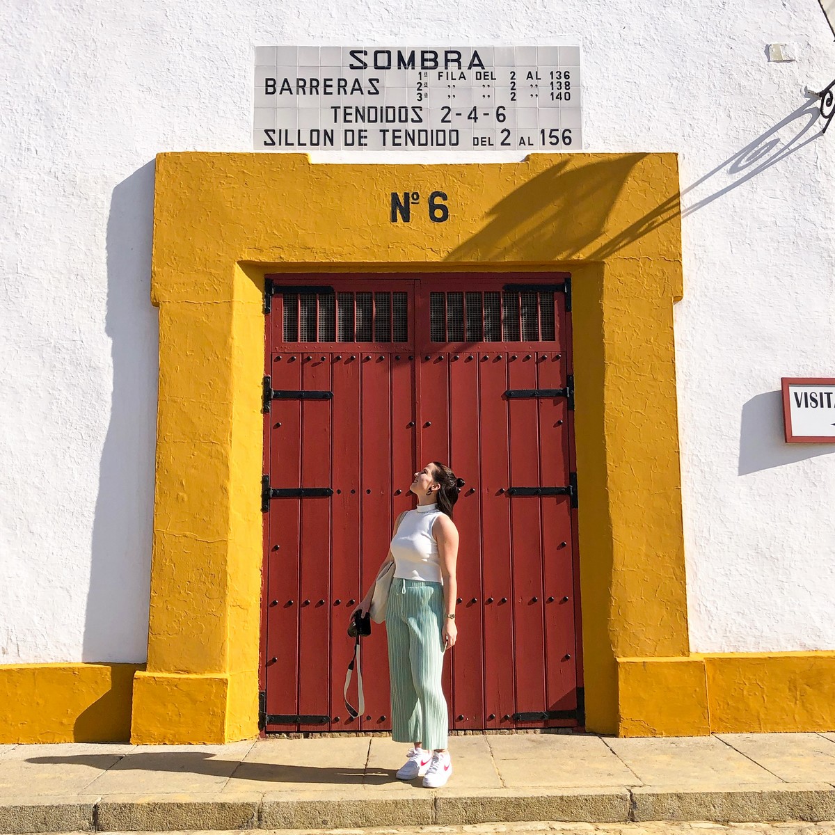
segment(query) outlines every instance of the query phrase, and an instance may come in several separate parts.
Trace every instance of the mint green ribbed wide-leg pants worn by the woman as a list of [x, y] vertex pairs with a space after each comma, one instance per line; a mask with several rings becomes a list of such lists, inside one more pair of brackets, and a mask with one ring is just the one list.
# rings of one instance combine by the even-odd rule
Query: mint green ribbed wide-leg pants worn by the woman
[[392, 681], [392, 739], [447, 747], [443, 697], [443, 585], [395, 577], [388, 594], [386, 633]]

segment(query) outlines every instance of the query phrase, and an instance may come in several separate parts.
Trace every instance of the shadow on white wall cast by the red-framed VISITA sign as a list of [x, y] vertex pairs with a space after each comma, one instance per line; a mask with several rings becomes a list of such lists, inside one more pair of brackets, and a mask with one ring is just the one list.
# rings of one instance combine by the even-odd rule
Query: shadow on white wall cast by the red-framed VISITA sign
[[835, 452], [819, 443], [786, 443], [783, 431], [782, 392], [764, 392], [742, 407], [739, 431], [739, 474], [782, 467]]

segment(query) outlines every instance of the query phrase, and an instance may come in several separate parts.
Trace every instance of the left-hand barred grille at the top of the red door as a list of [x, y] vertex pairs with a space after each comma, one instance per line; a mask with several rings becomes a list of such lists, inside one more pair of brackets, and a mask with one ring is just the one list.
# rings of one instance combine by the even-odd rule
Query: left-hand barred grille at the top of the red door
[[408, 342], [407, 293], [281, 295], [284, 342]]

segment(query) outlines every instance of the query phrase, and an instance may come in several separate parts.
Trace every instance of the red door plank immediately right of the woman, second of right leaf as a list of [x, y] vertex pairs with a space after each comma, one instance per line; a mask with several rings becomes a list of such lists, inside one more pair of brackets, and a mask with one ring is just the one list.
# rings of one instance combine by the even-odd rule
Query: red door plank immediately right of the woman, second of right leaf
[[450, 462], [467, 484], [455, 505], [458, 549], [456, 624], [460, 642], [452, 650], [453, 726], [482, 728], [483, 630], [481, 503], [478, 472], [478, 358], [474, 353], [453, 354], [448, 362], [450, 399]]

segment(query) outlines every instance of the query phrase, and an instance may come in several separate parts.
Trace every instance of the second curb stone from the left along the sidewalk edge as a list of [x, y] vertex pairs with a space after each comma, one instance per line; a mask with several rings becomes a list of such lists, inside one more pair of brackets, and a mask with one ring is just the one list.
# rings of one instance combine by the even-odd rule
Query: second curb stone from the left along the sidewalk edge
[[101, 832], [251, 829], [258, 825], [260, 805], [258, 794], [117, 795], [99, 801], [96, 819]]

